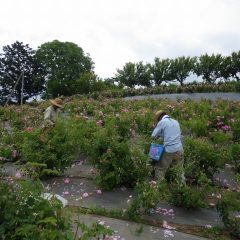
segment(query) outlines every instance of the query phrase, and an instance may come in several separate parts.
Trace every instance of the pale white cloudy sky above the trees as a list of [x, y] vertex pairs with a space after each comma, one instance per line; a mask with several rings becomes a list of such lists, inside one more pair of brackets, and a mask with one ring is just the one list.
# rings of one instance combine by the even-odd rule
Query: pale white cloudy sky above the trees
[[89, 53], [95, 73], [127, 62], [240, 50], [240, 0], [0, 0], [0, 51], [53, 40]]

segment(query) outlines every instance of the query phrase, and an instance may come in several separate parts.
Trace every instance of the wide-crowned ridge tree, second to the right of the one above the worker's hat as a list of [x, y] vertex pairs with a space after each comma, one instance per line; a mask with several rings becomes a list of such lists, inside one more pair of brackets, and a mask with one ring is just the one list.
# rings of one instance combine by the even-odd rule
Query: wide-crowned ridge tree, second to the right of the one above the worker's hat
[[221, 66], [223, 60], [221, 54], [201, 55], [195, 64], [194, 72], [197, 76], [202, 76], [206, 82], [214, 83], [217, 78], [222, 77]]

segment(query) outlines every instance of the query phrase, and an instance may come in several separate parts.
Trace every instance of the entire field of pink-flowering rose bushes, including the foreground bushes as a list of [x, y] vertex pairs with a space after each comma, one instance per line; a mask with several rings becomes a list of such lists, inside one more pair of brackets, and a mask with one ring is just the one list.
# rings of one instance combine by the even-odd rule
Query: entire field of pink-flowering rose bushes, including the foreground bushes
[[[220, 238], [221, 233], [233, 239], [240, 236], [240, 188], [227, 182], [222, 186], [216, 177], [227, 166], [240, 182], [239, 101], [95, 100], [83, 96], [63, 101], [64, 112], [52, 128], [42, 127], [48, 101], [0, 107], [0, 161], [24, 169], [21, 176], [11, 179], [1, 173], [0, 235], [4, 237], [0, 239], [74, 239], [61, 204], [41, 198], [40, 182], [60, 176], [80, 155], [95, 167], [99, 188], [134, 189], [135, 197], [122, 213], [127, 219], [137, 221], [159, 201], [187, 210], [214, 208], [223, 226], [219, 238], [213, 234], [212, 239], [226, 239]], [[159, 109], [181, 125], [186, 186], [180, 187], [176, 168], [167, 172], [165, 181], [151, 180], [150, 136], [154, 112]], [[4, 221], [8, 224], [2, 224]], [[81, 239], [111, 232], [99, 225], [86, 229], [86, 238]], [[36, 237], [39, 234], [41, 238]]]

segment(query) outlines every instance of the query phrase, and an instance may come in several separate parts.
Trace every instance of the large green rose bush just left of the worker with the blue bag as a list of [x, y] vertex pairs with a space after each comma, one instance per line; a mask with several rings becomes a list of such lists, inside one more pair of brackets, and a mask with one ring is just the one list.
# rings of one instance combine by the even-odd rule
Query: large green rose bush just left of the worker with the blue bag
[[119, 128], [111, 123], [98, 127], [87, 140], [88, 149], [85, 153], [96, 166], [97, 181], [105, 189], [123, 184], [134, 186], [149, 174], [148, 156], [144, 149], [132, 146], [123, 132], [120, 135]]

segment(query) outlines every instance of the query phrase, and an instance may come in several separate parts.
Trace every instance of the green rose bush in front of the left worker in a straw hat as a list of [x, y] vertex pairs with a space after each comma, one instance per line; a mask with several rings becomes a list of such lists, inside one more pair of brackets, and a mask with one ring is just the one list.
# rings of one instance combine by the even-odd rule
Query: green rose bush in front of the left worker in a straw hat
[[75, 146], [70, 138], [68, 128], [67, 122], [59, 121], [55, 127], [19, 133], [22, 141], [17, 143], [17, 148], [21, 153], [22, 160], [45, 164], [41, 165], [40, 176], [44, 173], [52, 175], [63, 171], [71, 164], [75, 156]]

